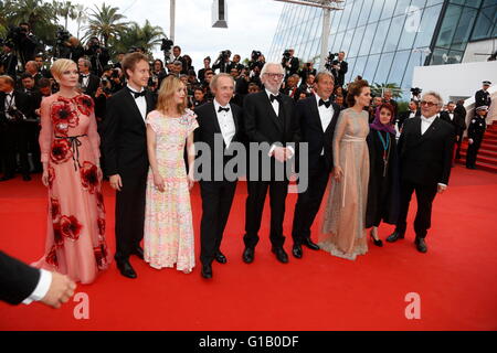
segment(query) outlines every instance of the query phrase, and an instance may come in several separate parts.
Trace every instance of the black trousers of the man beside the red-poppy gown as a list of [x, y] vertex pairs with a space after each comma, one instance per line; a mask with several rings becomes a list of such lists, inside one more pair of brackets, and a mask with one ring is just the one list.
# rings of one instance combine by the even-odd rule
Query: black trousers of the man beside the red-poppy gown
[[116, 192], [116, 260], [125, 260], [144, 238], [145, 195], [148, 169], [120, 174], [123, 188]]

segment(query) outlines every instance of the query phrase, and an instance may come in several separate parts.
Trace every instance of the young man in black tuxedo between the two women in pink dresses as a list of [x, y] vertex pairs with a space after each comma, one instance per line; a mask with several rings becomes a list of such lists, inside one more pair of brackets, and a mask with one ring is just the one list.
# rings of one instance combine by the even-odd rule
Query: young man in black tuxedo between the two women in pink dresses
[[116, 264], [120, 274], [136, 278], [129, 256], [144, 258], [145, 194], [148, 156], [145, 118], [155, 108], [151, 92], [145, 90], [148, 57], [135, 52], [123, 61], [128, 84], [106, 103], [102, 149], [106, 174], [116, 190]]

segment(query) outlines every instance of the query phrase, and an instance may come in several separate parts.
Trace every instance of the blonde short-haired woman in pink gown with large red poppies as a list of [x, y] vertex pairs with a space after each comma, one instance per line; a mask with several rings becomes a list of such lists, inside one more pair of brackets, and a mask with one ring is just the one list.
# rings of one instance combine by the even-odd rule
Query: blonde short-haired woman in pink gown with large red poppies
[[60, 92], [41, 104], [42, 181], [49, 188], [45, 255], [35, 267], [91, 284], [108, 267], [99, 137], [94, 104], [80, 94], [76, 63], [57, 60]]

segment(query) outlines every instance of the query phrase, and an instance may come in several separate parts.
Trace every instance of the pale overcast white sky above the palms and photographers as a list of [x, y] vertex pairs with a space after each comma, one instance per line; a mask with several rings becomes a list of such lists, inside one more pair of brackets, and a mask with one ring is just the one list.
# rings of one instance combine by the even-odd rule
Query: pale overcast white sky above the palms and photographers
[[[253, 50], [263, 54], [269, 50], [284, 3], [274, 0], [225, 1], [228, 29], [213, 29], [212, 0], [176, 0], [175, 44], [181, 46], [181, 54], [190, 55], [197, 71], [203, 67], [205, 56], [215, 61], [219, 53], [226, 49], [233, 54], [240, 54], [242, 60], [250, 57]], [[83, 3], [86, 8], [94, 8], [95, 4], [99, 7], [102, 3], [95, 0], [72, 2]], [[118, 7], [127, 21], [142, 25], [149, 20], [152, 25], [161, 26], [169, 36], [168, 0], [106, 0], [105, 3]], [[75, 35], [76, 22], [70, 21], [67, 30]], [[163, 58], [160, 51], [155, 56]]]

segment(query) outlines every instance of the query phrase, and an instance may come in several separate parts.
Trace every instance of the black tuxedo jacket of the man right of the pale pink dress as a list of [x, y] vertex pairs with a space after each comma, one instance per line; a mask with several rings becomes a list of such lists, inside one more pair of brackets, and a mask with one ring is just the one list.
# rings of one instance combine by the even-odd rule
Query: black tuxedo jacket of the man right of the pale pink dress
[[[244, 143], [244, 133], [243, 133], [243, 116], [242, 108], [237, 105], [230, 103], [230, 109], [233, 115], [233, 122], [235, 126], [235, 135], [231, 142], [242, 142]], [[194, 141], [195, 142], [204, 142], [209, 145], [211, 150], [211, 181], [214, 181], [214, 137], [215, 133], [219, 133], [219, 137], [222, 139], [221, 127], [219, 125], [218, 115], [215, 111], [214, 103], [205, 103], [198, 108], [195, 108], [197, 114], [197, 122], [199, 124], [199, 128], [194, 130]], [[230, 145], [232, 146], [232, 145]], [[228, 148], [230, 149], [230, 148]], [[197, 149], [195, 149], [197, 150]], [[222, 142], [222, 152], [226, 151], [226, 145], [224, 140]], [[233, 158], [234, 156], [225, 156], [222, 158], [223, 168], [224, 165]]]

